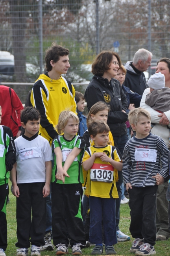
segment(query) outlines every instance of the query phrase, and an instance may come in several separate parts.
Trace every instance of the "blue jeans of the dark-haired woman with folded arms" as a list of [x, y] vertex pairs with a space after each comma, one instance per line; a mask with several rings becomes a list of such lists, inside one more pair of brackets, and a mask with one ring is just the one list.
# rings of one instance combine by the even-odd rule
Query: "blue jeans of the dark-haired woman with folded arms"
[[[128, 135], [124, 134], [122, 136], [113, 136], [115, 146], [120, 150], [120, 153], [123, 154], [124, 147], [126, 145], [126, 142], [128, 141]], [[116, 198], [116, 230], [119, 230], [118, 224], [120, 221], [120, 201], [122, 197], [122, 189], [121, 185], [123, 183], [123, 176], [122, 172], [118, 171], [118, 182], [116, 182], [116, 188], [118, 191], [119, 198]]]

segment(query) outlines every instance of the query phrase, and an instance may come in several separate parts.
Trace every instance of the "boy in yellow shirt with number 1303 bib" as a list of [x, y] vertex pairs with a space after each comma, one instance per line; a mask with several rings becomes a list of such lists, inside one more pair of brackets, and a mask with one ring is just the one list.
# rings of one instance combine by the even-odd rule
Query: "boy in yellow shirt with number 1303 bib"
[[89, 134], [94, 146], [88, 147], [83, 156], [83, 168], [87, 173], [85, 195], [89, 196], [90, 234], [89, 241], [96, 246], [92, 255], [102, 254], [102, 217], [106, 255], [116, 254], [117, 243], [115, 202], [118, 198], [114, 168], [122, 171], [121, 154], [116, 147], [107, 145], [109, 126], [104, 121], [92, 121]]

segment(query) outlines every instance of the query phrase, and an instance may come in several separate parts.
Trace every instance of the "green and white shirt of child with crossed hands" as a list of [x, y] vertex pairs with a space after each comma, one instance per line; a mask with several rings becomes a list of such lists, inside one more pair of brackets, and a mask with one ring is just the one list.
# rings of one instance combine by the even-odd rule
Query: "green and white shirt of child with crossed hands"
[[[54, 150], [54, 148], [57, 148], [57, 147], [60, 147], [62, 151], [62, 155], [63, 155], [62, 165], [64, 165], [68, 154], [73, 150], [74, 147], [82, 148], [81, 152], [78, 154], [78, 156], [74, 159], [74, 161], [70, 165], [70, 168], [67, 171], [70, 178], [65, 177], [64, 184], [84, 183], [82, 167], [81, 167], [81, 159], [85, 149], [84, 139], [79, 135], [76, 135], [71, 141], [68, 141], [67, 139], [65, 139], [64, 135], [58, 135], [57, 137], [55, 137], [55, 139], [52, 142], [52, 150]], [[56, 165], [56, 156], [55, 156], [54, 167], [52, 169], [51, 182], [63, 184], [62, 180], [57, 180], [55, 178], [56, 173], [57, 173], [57, 165]]]

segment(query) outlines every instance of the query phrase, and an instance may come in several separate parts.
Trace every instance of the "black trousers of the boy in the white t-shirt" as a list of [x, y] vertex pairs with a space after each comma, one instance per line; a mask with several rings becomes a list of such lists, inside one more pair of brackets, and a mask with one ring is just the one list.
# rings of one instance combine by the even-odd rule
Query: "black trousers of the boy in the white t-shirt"
[[[46, 198], [43, 198], [44, 182], [17, 184], [17, 238], [19, 248], [45, 245]], [[32, 220], [31, 220], [32, 210]], [[31, 237], [31, 239], [30, 239]]]

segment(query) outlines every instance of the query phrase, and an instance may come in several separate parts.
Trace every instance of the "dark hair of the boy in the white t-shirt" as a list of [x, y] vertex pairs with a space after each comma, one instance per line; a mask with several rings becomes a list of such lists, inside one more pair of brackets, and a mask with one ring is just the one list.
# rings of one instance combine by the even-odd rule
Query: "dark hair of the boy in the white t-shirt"
[[20, 121], [26, 124], [28, 120], [39, 120], [41, 115], [36, 108], [33, 107], [26, 107], [21, 111]]

